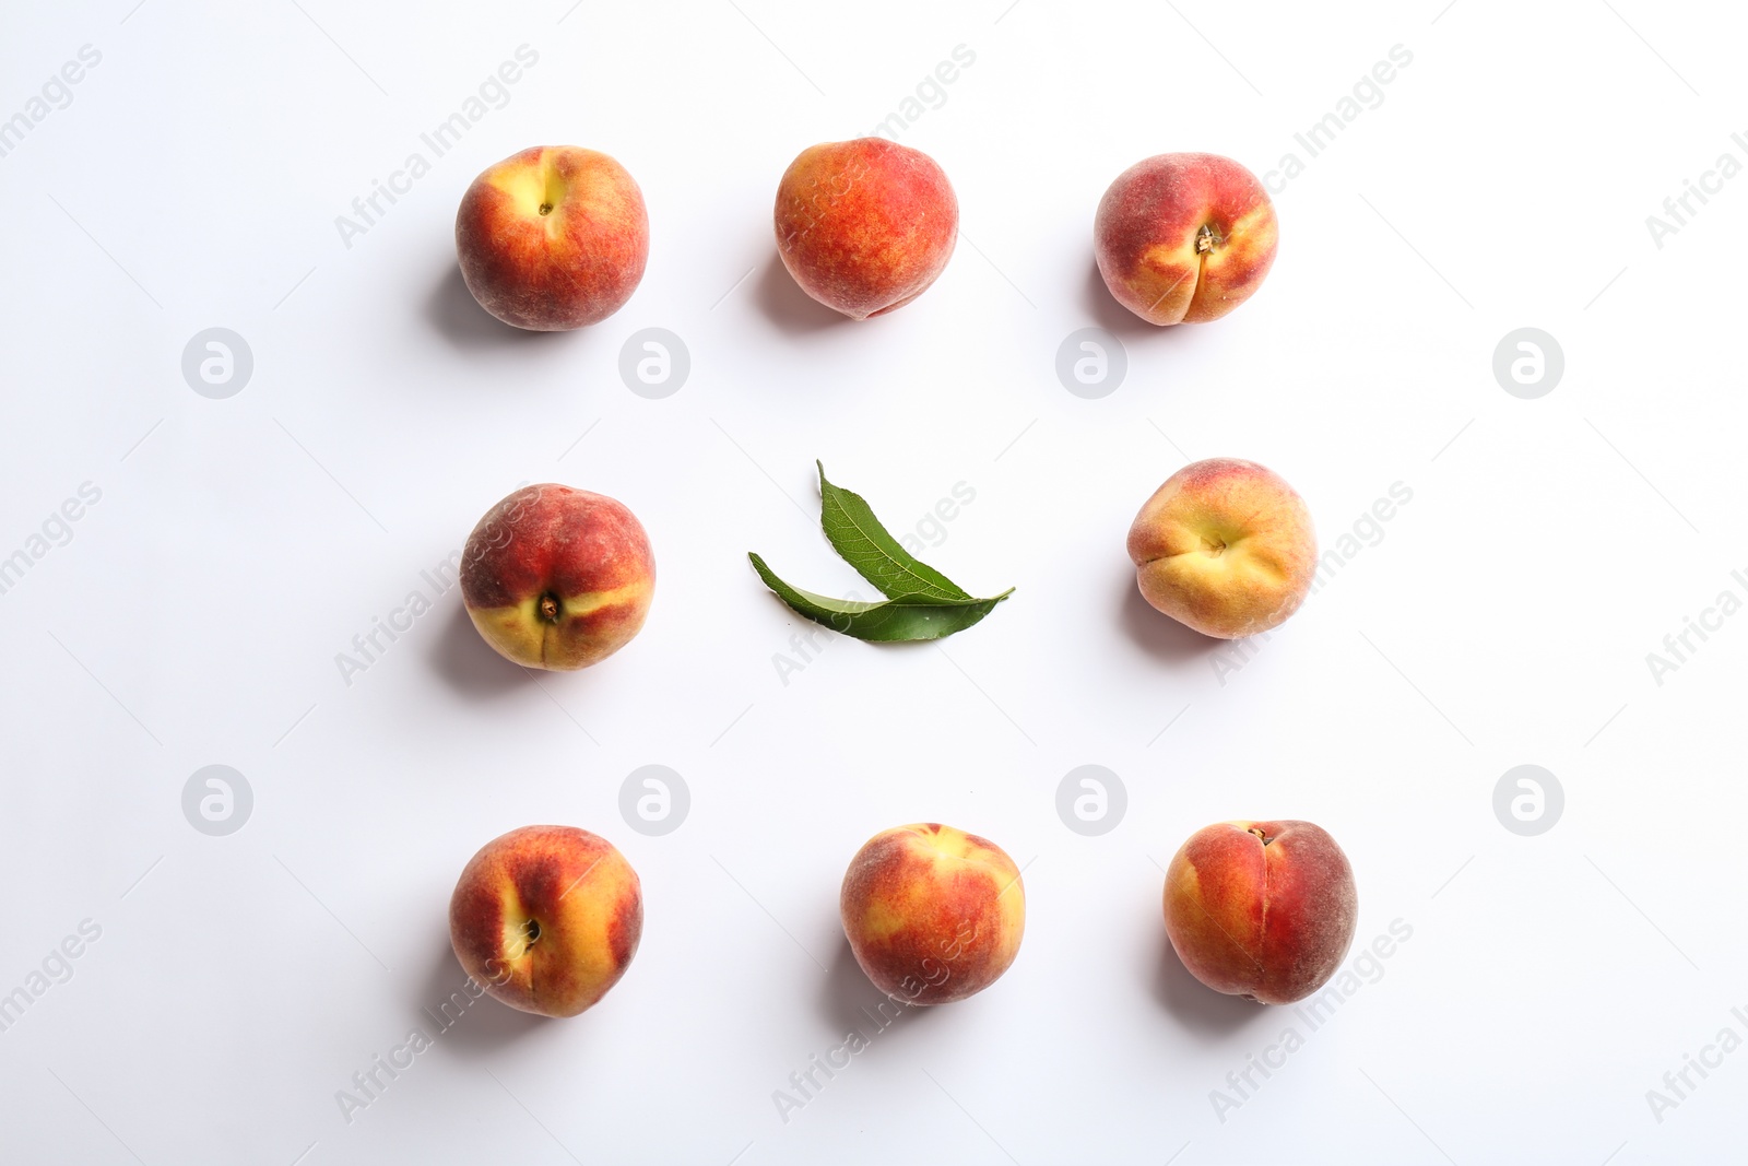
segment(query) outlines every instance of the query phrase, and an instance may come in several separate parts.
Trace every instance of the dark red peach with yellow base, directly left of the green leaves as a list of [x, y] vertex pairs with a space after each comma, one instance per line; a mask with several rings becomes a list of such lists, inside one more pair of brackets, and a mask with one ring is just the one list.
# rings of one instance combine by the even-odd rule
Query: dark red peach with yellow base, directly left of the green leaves
[[607, 495], [524, 486], [486, 510], [461, 551], [461, 601], [505, 659], [573, 671], [638, 635], [656, 594], [643, 524]]

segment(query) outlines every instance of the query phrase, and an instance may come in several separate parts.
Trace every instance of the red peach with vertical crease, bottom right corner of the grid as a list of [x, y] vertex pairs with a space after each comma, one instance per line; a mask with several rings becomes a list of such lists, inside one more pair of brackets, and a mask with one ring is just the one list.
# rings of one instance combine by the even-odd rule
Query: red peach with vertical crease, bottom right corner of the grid
[[1229, 996], [1304, 1000], [1335, 974], [1360, 914], [1353, 867], [1309, 822], [1222, 822], [1166, 869], [1166, 933]]

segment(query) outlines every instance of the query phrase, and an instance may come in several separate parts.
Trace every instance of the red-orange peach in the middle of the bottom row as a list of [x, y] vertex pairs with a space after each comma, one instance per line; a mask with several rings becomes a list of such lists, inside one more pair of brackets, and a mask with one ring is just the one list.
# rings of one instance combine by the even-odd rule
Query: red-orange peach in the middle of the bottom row
[[839, 909], [857, 963], [900, 1003], [982, 991], [1026, 930], [1026, 888], [1007, 851], [937, 822], [871, 837], [850, 860]]

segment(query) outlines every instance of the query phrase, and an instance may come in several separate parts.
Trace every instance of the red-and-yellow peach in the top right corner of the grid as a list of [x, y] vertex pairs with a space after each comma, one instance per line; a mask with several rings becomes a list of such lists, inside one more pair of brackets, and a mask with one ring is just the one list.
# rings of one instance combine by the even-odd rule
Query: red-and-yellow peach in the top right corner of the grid
[[1274, 205], [1218, 154], [1157, 154], [1117, 175], [1092, 220], [1105, 287], [1148, 323], [1218, 320], [1274, 264]]

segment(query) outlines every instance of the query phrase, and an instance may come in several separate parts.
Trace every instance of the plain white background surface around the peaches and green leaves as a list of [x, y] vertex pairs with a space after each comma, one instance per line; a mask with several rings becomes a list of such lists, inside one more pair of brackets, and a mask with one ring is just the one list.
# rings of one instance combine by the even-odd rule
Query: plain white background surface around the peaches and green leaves
[[[1720, 152], [1748, 161], [1743, 28], [1725, 5], [1440, 3], [9, 5], [0, 117], [80, 45], [101, 63], [0, 159], [0, 556], [80, 482], [101, 500], [0, 596], [0, 991], [80, 920], [101, 939], [0, 1033], [0, 1159], [1734, 1154], [1748, 1052], [1661, 1122], [1647, 1091], [1748, 1035], [1748, 619], [1661, 685], [1645, 656], [1748, 594], [1748, 178], [1662, 248], [1645, 217]], [[507, 105], [348, 248], [336, 215], [521, 44], [538, 63]], [[1383, 103], [1308, 157], [1294, 133], [1397, 44]], [[961, 246], [918, 302], [836, 320], [776, 262], [776, 180], [956, 45], [974, 65], [900, 140], [951, 177]], [[552, 142], [636, 177], [650, 262], [605, 323], [514, 334], [461, 288], [453, 215], [479, 170]], [[1141, 325], [1092, 269], [1099, 194], [1164, 150], [1306, 163], [1273, 274], [1213, 325]], [[215, 325], [255, 360], [225, 400], [180, 371]], [[1129, 362], [1101, 400], [1054, 372], [1091, 325]], [[1526, 325], [1566, 357], [1538, 400], [1491, 371]], [[664, 400], [617, 372], [643, 327], [690, 351]], [[1147, 495], [1215, 455], [1281, 472], [1325, 545], [1412, 489], [1224, 675], [1124, 556]], [[745, 554], [855, 582], [815, 526], [816, 456], [900, 533], [975, 489], [925, 558], [1014, 598], [939, 649], [830, 640], [783, 684], [806, 624]], [[638, 640], [535, 678], [451, 591], [344, 684], [336, 654], [524, 481], [642, 517], [661, 584]], [[1566, 794], [1538, 837], [1491, 802], [1526, 762]], [[227, 837], [182, 815], [208, 764], [253, 788]], [[645, 764], [690, 787], [666, 837], [619, 815]], [[1082, 764], [1127, 788], [1101, 837], [1056, 815]], [[1321, 823], [1358, 942], [1412, 939], [1222, 1121], [1210, 1093], [1294, 1021], [1190, 981], [1159, 890], [1185, 836], [1238, 816]], [[1026, 864], [1019, 960], [783, 1122], [773, 1091], [877, 1000], [844, 864], [914, 820]], [[461, 982], [461, 865], [531, 822], [638, 869], [629, 974], [572, 1021], [481, 1002], [348, 1122], [336, 1091]]]

